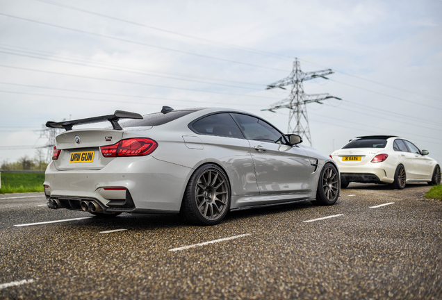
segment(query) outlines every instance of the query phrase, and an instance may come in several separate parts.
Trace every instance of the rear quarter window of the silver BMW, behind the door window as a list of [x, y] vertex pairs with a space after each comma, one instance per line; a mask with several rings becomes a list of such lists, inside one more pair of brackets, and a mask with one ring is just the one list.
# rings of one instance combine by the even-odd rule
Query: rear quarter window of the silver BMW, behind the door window
[[197, 133], [206, 135], [220, 135], [229, 138], [244, 138], [238, 125], [228, 113], [209, 115], [192, 124]]

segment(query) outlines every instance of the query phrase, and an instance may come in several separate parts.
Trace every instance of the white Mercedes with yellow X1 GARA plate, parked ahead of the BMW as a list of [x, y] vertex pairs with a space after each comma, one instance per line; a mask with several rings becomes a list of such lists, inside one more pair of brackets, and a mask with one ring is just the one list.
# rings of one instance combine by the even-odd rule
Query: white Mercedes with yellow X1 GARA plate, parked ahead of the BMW
[[407, 183], [441, 183], [441, 167], [427, 150], [391, 135], [362, 136], [331, 153], [341, 172], [341, 188], [350, 182], [391, 183], [402, 190]]

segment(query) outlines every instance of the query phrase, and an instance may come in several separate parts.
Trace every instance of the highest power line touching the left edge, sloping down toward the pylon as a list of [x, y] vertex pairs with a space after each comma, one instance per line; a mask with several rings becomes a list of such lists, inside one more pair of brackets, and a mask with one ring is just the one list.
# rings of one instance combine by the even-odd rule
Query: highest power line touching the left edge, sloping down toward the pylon
[[202, 58], [208, 58], [208, 59], [213, 59], [213, 60], [220, 60], [220, 61], [223, 61], [223, 62], [226, 62], [226, 63], [236, 63], [236, 64], [239, 64], [239, 65], [247, 65], [249, 67], [259, 67], [259, 68], [262, 68], [262, 69], [271, 69], [271, 70], [274, 70], [274, 71], [283, 71], [283, 72], [285, 72], [284, 69], [276, 69], [276, 68], [272, 68], [272, 67], [265, 67], [265, 66], [253, 65], [253, 64], [249, 64], [249, 63], [242, 63], [242, 62], [238, 62], [236, 60], [227, 60], [227, 59], [224, 59], [224, 58], [216, 58], [214, 56], [206, 56], [206, 55], [203, 55], [203, 54], [192, 53], [192, 52], [181, 51], [181, 50], [167, 48], [167, 47], [156, 46], [154, 44], [146, 44], [146, 43], [143, 43], [143, 42], [137, 42], [137, 41], [133, 41], [133, 40], [126, 40], [124, 38], [116, 38], [116, 37], [113, 37], [113, 36], [110, 36], [110, 35], [103, 35], [103, 34], [100, 34], [100, 33], [93, 33], [93, 32], [90, 32], [90, 31], [83, 31], [81, 29], [75, 29], [75, 28], [70, 28], [70, 27], [66, 27], [66, 26], [60, 26], [60, 25], [56, 25], [56, 24], [40, 22], [40, 21], [36, 21], [36, 20], [33, 20], [33, 19], [27, 19], [27, 18], [24, 18], [24, 17], [17, 17], [17, 16], [14, 16], [14, 15], [8, 15], [8, 14], [4, 14], [2, 12], [0, 12], [0, 15], [3, 15], [3, 16], [6, 16], [6, 17], [11, 17], [11, 18], [14, 18], [14, 19], [20, 19], [20, 20], [27, 21], [27, 22], [33, 22], [33, 23], [36, 23], [36, 24], [42, 24], [42, 25], [45, 25], [45, 26], [61, 28], [61, 29], [65, 29], [67, 31], [74, 31], [74, 32], [78, 32], [78, 33], [94, 35], [94, 36], [97, 36], [97, 37], [100, 37], [100, 38], [107, 38], [107, 39], [111, 39], [111, 40], [117, 40], [117, 41], [120, 41], [120, 42], [129, 42], [129, 43], [132, 43], [132, 44], [139, 44], [139, 45], [145, 46], [145, 47], [152, 47], [152, 48], [161, 49], [161, 50], [167, 50], [167, 51], [172, 51], [172, 52], [177, 52], [177, 53], [182, 53], [182, 54], [188, 54], [188, 55], [191, 55], [191, 56], [199, 56], [199, 57], [202, 57]]

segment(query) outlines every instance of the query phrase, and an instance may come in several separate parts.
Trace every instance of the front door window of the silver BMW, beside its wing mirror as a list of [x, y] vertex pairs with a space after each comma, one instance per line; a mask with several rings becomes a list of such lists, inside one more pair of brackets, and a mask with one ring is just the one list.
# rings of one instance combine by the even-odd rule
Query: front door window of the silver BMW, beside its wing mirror
[[284, 136], [267, 122], [249, 115], [231, 114], [247, 140], [285, 144]]

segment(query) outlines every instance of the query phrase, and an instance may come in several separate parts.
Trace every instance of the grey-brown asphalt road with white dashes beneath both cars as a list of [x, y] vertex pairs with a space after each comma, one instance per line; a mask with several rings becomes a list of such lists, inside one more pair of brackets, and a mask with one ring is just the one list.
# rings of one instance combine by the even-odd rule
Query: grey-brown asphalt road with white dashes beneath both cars
[[334, 206], [245, 210], [207, 227], [3, 194], [0, 299], [442, 299], [442, 202], [428, 190], [352, 183]]

